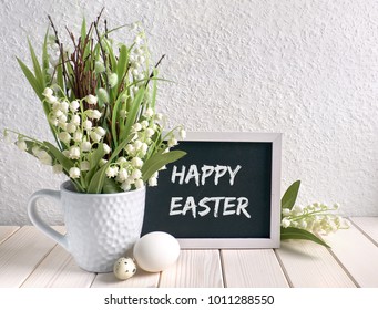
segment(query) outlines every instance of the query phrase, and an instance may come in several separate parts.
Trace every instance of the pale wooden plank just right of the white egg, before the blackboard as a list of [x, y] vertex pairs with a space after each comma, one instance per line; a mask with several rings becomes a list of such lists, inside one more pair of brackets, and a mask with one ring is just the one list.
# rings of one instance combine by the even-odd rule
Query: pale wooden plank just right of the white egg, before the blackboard
[[218, 250], [182, 250], [177, 262], [164, 270], [162, 288], [222, 288]]

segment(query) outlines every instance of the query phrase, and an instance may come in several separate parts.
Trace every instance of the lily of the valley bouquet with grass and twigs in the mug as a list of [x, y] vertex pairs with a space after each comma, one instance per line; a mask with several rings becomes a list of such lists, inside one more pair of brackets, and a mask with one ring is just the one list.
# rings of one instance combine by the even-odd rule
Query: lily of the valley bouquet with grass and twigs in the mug
[[[163, 56], [152, 66], [143, 29], [134, 23], [108, 30], [106, 21], [101, 28], [101, 13], [89, 27], [83, 19], [79, 38], [68, 30], [71, 49], [49, 17], [41, 62], [30, 41], [32, 69], [17, 59], [42, 103], [55, 145], [8, 132], [18, 134], [20, 149], [69, 176], [78, 192], [154, 186], [159, 170], [185, 155], [171, 151], [184, 130], [165, 131], [165, 118], [155, 111]], [[110, 35], [125, 28], [135, 31], [134, 41], [114, 43]]]

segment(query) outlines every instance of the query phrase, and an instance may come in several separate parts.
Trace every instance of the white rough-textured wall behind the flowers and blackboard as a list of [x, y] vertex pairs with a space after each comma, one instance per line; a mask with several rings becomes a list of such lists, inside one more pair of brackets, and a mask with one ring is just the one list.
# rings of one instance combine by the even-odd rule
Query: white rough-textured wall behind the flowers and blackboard
[[[110, 25], [142, 20], [155, 59], [167, 54], [161, 72], [178, 83], [161, 84], [159, 103], [172, 124], [282, 132], [283, 189], [302, 179], [300, 203], [378, 215], [378, 1], [92, 2], [0, 1], [1, 130], [50, 137], [14, 55], [27, 58], [27, 35], [40, 46], [48, 13], [78, 30], [105, 6]], [[12, 145], [0, 152], [0, 224], [28, 223], [28, 197], [62, 178]], [[45, 216], [61, 221], [55, 207]]]

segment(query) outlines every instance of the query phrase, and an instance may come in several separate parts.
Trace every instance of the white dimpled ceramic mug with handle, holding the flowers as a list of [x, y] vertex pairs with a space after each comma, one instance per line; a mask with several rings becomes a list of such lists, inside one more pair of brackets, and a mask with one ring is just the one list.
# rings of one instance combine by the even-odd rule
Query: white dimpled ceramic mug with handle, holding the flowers
[[[67, 234], [61, 235], [38, 214], [37, 200], [50, 197], [63, 208]], [[140, 238], [145, 187], [116, 194], [82, 194], [70, 182], [60, 190], [35, 192], [28, 202], [32, 224], [68, 250], [84, 270], [110, 272]]]

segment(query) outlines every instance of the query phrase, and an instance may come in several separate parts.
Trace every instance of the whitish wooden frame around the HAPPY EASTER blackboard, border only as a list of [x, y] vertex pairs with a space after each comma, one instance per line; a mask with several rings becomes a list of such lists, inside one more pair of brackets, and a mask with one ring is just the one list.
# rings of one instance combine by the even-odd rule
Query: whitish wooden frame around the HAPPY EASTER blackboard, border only
[[[270, 230], [268, 238], [180, 238], [183, 249], [278, 248], [280, 244], [280, 156], [282, 134], [190, 132], [185, 142], [251, 142], [272, 144]], [[177, 147], [180, 149], [180, 146]]]

